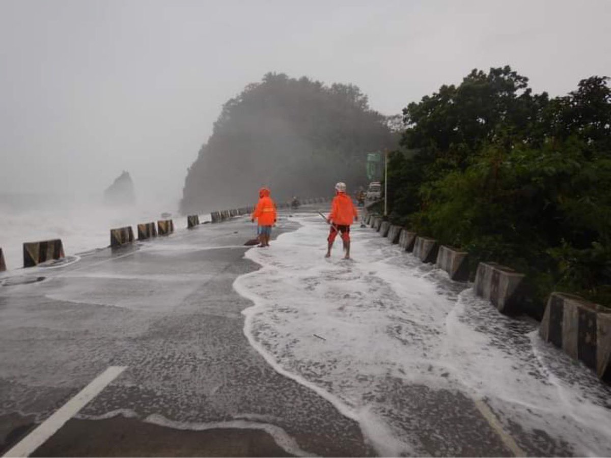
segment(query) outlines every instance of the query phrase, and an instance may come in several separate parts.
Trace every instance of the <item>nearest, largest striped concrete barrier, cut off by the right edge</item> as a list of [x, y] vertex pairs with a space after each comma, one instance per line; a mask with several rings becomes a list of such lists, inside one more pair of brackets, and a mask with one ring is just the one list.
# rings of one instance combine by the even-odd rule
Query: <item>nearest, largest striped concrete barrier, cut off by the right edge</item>
[[539, 335], [611, 383], [611, 310], [573, 294], [552, 293]]

